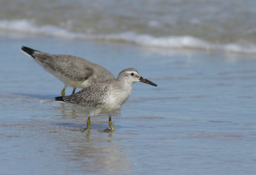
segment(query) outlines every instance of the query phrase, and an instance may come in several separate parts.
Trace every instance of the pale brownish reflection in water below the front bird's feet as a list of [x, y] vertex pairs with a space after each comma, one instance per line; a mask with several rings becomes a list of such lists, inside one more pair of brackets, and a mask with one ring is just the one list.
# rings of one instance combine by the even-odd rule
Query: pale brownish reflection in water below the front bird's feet
[[131, 164], [124, 148], [114, 144], [109, 137], [100, 137], [95, 133], [86, 133], [86, 138], [77, 137], [68, 144], [65, 156], [77, 162], [86, 173], [126, 174]]

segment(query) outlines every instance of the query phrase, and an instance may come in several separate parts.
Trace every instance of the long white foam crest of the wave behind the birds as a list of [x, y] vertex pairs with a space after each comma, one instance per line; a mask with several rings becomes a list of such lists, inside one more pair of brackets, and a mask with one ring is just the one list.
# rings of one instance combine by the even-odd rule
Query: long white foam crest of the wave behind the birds
[[243, 47], [236, 43], [214, 44], [205, 42], [193, 36], [166, 36], [155, 37], [149, 34], [133, 32], [118, 34], [84, 34], [74, 33], [55, 26], [37, 26], [28, 20], [0, 20], [0, 33], [45, 35], [68, 40], [104, 40], [109, 42], [127, 42], [146, 47], [162, 47], [170, 49], [201, 49], [220, 50], [236, 54], [256, 54], [256, 45]]

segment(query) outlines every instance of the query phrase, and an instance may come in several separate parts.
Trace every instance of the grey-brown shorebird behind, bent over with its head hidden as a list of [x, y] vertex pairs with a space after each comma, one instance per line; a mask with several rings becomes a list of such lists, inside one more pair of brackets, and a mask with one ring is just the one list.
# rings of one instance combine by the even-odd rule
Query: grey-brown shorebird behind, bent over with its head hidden
[[33, 57], [35, 61], [47, 72], [61, 80], [65, 87], [61, 95], [65, 96], [65, 89], [73, 87], [86, 88], [91, 84], [103, 82], [108, 79], [115, 79], [114, 75], [100, 65], [76, 56], [47, 54], [39, 50], [22, 46], [22, 52]]

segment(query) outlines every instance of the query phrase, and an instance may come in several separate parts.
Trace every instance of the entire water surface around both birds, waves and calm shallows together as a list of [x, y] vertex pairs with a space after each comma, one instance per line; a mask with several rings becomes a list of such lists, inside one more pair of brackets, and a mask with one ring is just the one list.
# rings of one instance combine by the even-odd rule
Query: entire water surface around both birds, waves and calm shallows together
[[[1, 1], [0, 174], [255, 174], [256, 1]], [[84, 57], [136, 82], [112, 118], [56, 103], [20, 52]], [[67, 94], [72, 88], [67, 88]]]

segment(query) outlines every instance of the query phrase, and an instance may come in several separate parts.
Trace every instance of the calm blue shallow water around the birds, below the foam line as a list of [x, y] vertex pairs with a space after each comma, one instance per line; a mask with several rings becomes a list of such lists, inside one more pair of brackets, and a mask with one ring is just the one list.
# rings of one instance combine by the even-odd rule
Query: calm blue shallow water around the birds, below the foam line
[[[256, 59], [216, 52], [1, 36], [0, 174], [254, 174]], [[49, 44], [51, 43], [51, 44]], [[63, 84], [21, 45], [72, 54], [140, 82], [113, 116], [54, 103]], [[72, 88], [67, 89], [71, 93]]]

